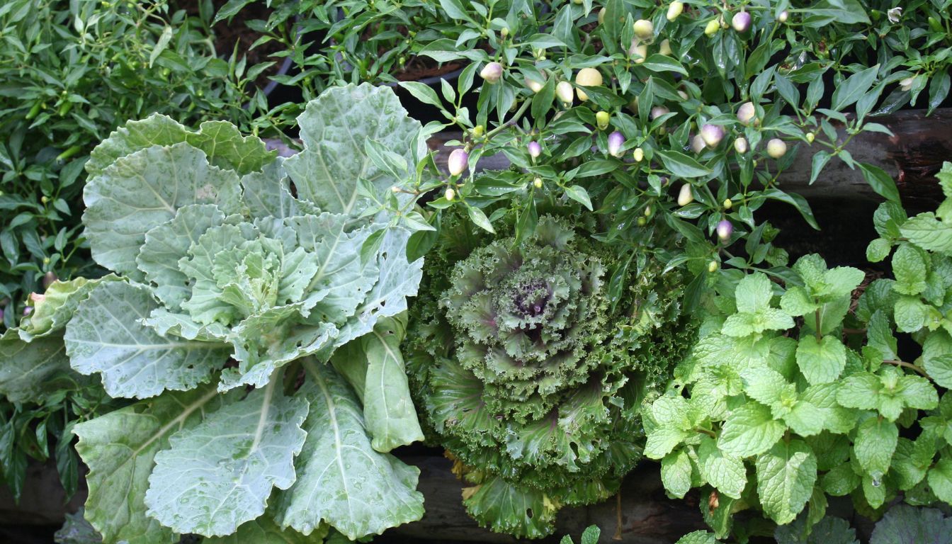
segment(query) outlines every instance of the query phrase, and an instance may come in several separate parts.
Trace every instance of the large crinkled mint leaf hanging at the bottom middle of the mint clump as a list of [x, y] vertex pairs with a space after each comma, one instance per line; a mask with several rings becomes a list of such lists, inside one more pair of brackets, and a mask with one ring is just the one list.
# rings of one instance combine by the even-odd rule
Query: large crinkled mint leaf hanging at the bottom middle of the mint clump
[[800, 514], [817, 481], [817, 458], [803, 440], [775, 444], [758, 455], [757, 494], [764, 514], [783, 525]]

